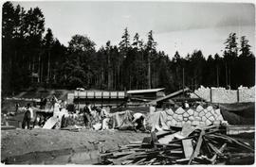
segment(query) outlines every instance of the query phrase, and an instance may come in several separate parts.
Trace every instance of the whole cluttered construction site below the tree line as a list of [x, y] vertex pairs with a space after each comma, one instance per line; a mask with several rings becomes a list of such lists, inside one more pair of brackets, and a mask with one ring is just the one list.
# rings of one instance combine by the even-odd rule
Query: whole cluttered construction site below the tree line
[[[165, 94], [38, 89], [2, 100], [6, 164], [253, 164], [254, 87]], [[51, 101], [56, 99], [53, 106]], [[23, 126], [27, 103], [33, 119]], [[91, 126], [82, 110], [90, 104]], [[105, 114], [102, 117], [102, 112]], [[135, 115], [143, 116], [143, 128]], [[25, 128], [25, 129], [24, 129]]]

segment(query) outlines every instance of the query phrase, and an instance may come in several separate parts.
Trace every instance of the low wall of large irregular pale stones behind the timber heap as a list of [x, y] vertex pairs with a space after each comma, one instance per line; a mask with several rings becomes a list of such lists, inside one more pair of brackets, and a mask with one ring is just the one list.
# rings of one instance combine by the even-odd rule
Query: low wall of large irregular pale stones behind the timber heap
[[166, 112], [166, 125], [182, 126], [185, 123], [191, 125], [211, 125], [220, 124], [224, 121], [220, 109], [213, 109], [209, 106], [204, 109], [202, 106], [198, 106], [196, 109], [182, 109], [178, 108], [175, 111], [173, 109], [165, 110]]

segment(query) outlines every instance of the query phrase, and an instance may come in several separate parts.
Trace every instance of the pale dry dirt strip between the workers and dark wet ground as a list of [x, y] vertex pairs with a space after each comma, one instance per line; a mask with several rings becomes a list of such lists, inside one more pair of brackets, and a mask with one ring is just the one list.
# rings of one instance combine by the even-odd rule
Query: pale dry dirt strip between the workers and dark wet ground
[[34, 151], [52, 151], [65, 148], [91, 147], [90, 142], [101, 142], [103, 150], [115, 149], [132, 141], [142, 141], [150, 134], [131, 131], [91, 131], [82, 129], [72, 132], [58, 129], [1, 130], [1, 160]]

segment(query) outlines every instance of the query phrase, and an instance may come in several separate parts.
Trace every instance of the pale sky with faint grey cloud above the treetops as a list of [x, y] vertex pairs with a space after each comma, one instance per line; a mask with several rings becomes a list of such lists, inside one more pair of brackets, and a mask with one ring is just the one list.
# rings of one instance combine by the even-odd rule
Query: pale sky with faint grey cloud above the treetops
[[46, 28], [64, 45], [75, 34], [87, 35], [97, 48], [107, 41], [118, 44], [124, 28], [130, 39], [137, 32], [144, 42], [154, 31], [156, 49], [170, 58], [178, 51], [186, 57], [193, 50], [204, 56], [222, 55], [230, 32], [247, 36], [255, 50], [255, 8], [249, 3], [202, 2], [14, 2], [22, 7], [42, 9]]

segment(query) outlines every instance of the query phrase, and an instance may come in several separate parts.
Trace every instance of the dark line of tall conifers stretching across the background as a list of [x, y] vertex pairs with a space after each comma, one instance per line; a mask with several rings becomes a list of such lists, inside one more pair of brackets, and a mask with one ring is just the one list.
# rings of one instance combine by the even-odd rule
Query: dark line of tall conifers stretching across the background
[[27, 88], [135, 90], [184, 85], [229, 87], [254, 86], [255, 57], [245, 36], [230, 33], [223, 55], [206, 58], [194, 50], [186, 56], [175, 52], [170, 58], [157, 50], [154, 32], [144, 42], [124, 29], [118, 45], [106, 42], [100, 49], [89, 37], [76, 34], [64, 46], [45, 27], [40, 8], [25, 10], [10, 2], [2, 13], [2, 92]]

